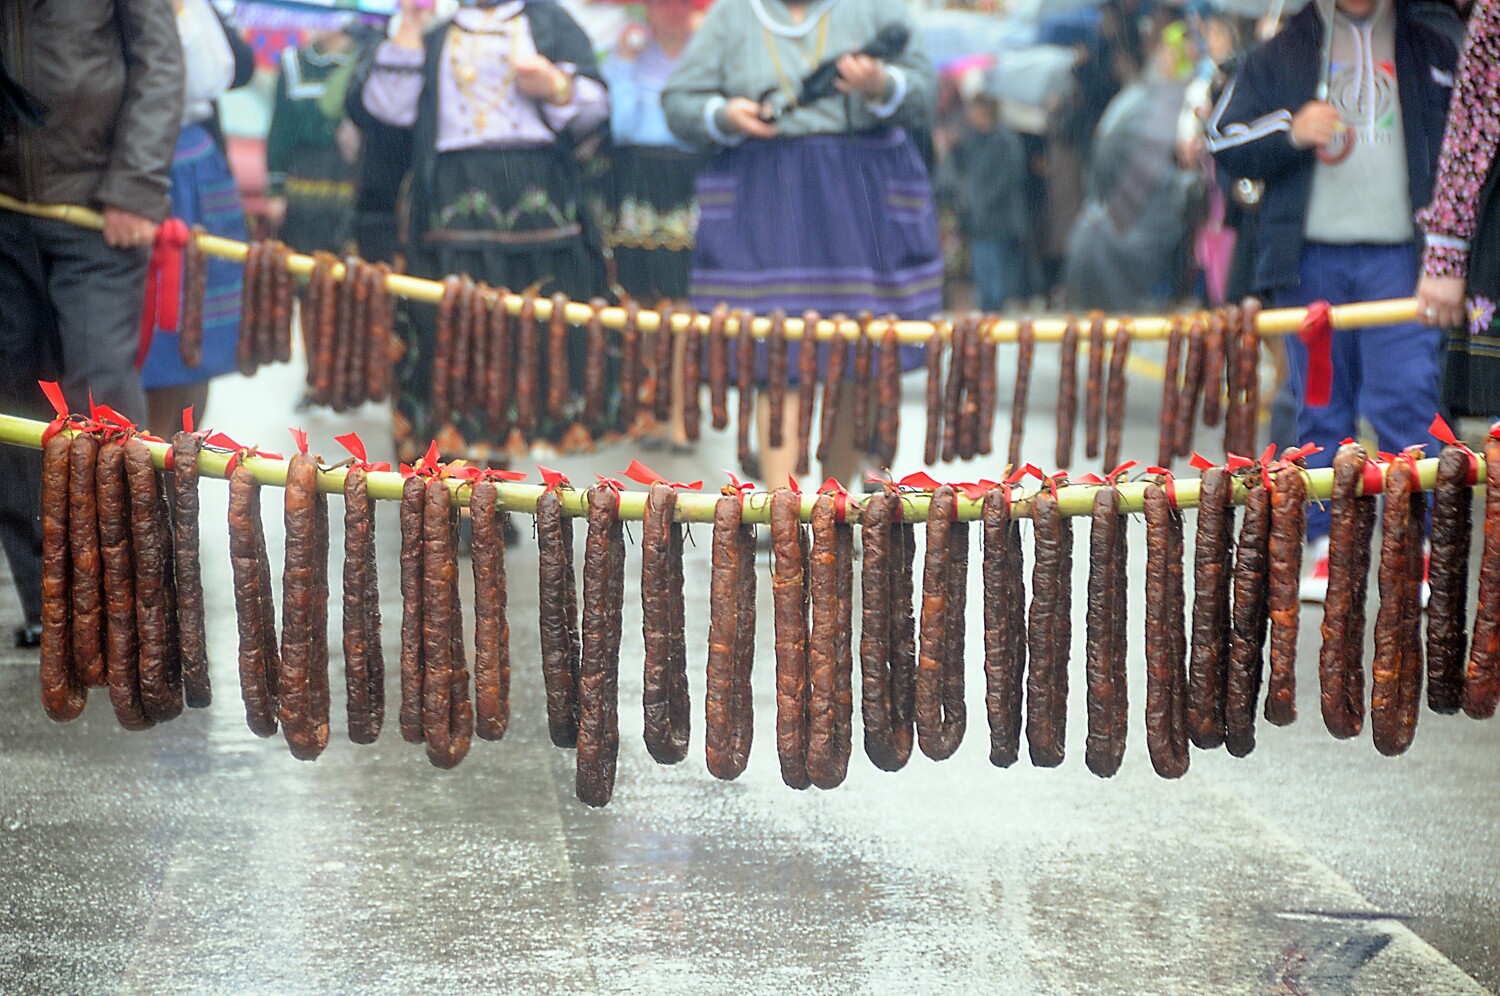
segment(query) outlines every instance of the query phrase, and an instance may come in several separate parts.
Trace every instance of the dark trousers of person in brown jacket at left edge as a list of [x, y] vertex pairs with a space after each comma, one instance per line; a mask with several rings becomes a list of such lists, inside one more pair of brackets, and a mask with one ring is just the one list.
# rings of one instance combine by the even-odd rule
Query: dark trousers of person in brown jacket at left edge
[[[74, 411], [88, 393], [146, 420], [135, 370], [150, 250], [0, 210], [0, 411], [51, 418], [38, 381], [60, 381]], [[0, 544], [27, 620], [42, 614], [42, 454], [0, 446]]]

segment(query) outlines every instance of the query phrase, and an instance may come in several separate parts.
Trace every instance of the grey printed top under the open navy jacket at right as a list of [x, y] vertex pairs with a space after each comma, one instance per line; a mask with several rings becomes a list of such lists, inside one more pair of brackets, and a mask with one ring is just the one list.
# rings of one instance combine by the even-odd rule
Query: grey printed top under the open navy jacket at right
[[1308, 202], [1308, 242], [1395, 244], [1412, 242], [1416, 234], [1395, 32], [1395, 0], [1377, 0], [1364, 20], [1342, 12], [1334, 18], [1329, 102], [1342, 116], [1348, 128], [1346, 140], [1354, 148], [1344, 162], [1317, 164]]

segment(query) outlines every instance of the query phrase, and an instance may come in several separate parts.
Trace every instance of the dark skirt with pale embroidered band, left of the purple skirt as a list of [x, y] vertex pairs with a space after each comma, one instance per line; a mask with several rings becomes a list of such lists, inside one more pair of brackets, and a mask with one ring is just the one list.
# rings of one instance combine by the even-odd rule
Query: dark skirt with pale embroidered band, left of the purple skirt
[[663, 297], [687, 300], [698, 232], [693, 184], [708, 156], [621, 146], [614, 159], [604, 244], [615, 255], [615, 279], [651, 306]]

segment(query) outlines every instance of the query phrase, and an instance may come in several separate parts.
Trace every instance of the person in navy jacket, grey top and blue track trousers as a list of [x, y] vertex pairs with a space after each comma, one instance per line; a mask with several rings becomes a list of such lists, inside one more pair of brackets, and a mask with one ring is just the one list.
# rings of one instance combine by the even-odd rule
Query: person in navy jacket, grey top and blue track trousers
[[[1412, 296], [1422, 256], [1413, 216], [1432, 194], [1454, 82], [1454, 46], [1412, 21], [1404, 0], [1336, 0], [1329, 99], [1317, 100], [1324, 6], [1310, 3], [1251, 51], [1208, 128], [1222, 170], [1266, 184], [1256, 286], [1276, 308]], [[1317, 154], [1344, 142], [1353, 147], [1341, 162]], [[1360, 416], [1383, 450], [1426, 444], [1438, 342], [1419, 322], [1335, 333], [1329, 404], [1308, 405], [1308, 351], [1288, 336], [1299, 441], [1323, 447], [1308, 464], [1332, 464]], [[1318, 506], [1308, 537], [1304, 597], [1322, 602], [1328, 512]]]

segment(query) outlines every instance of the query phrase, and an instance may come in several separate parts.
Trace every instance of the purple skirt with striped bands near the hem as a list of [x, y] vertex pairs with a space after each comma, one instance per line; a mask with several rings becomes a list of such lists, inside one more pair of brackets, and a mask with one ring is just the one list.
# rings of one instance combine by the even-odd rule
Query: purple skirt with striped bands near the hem
[[[765, 315], [942, 308], [932, 182], [902, 129], [747, 141], [698, 178], [693, 306]], [[796, 378], [796, 344], [790, 350]], [[764, 350], [760, 375], [765, 374]], [[904, 350], [908, 369], [921, 348]]]

